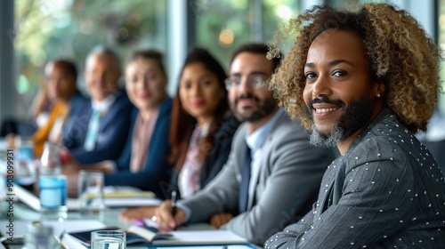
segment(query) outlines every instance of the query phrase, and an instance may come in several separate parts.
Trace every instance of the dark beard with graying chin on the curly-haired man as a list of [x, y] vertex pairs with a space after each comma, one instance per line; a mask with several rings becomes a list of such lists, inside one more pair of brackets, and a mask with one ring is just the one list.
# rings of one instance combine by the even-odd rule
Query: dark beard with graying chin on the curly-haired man
[[311, 119], [312, 122], [312, 133], [310, 135], [311, 145], [317, 147], [336, 147], [339, 141], [344, 141], [351, 136], [352, 133], [359, 131], [366, 124], [368, 124], [372, 113], [371, 98], [365, 96], [352, 102], [352, 104], [345, 109], [344, 114], [340, 116], [338, 121], [332, 124], [328, 133], [319, 133], [313, 121], [313, 103], [334, 103], [339, 106], [339, 108], [342, 108], [344, 107], [344, 102], [342, 100], [330, 101], [328, 98], [322, 97], [311, 100], [307, 104], [307, 108], [303, 108], [304, 113]]

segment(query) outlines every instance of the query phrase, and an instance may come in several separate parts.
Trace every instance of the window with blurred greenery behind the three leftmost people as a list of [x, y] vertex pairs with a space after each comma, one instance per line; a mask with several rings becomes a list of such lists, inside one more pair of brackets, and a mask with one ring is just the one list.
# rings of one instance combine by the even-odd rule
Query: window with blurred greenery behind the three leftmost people
[[[78, 85], [85, 91], [85, 56], [97, 44], [120, 55], [154, 47], [166, 51], [166, 1], [20, 0], [15, 1], [17, 89], [29, 107], [44, 84], [44, 64], [68, 58], [77, 62]], [[106, 6], [106, 7], [104, 7]]]

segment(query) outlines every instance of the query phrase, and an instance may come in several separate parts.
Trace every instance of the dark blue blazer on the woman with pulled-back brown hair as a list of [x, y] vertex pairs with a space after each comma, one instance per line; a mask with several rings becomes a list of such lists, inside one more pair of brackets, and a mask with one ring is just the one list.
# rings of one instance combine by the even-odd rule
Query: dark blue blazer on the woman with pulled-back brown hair
[[[128, 133], [122, 155], [115, 161], [118, 172], [105, 175], [105, 185], [132, 186], [142, 190], [150, 190], [162, 197], [161, 185], [167, 182], [167, 173], [170, 165], [167, 157], [170, 155], [170, 119], [172, 113], [172, 99], [164, 100], [158, 112], [158, 119], [151, 135], [147, 160], [141, 172], [130, 172], [130, 159], [132, 154], [132, 138], [134, 124], [138, 116], [138, 109], [134, 108], [132, 113], [132, 127]], [[164, 184], [163, 184], [164, 183]], [[162, 187], [164, 187], [162, 186]], [[164, 188], [165, 189], [165, 188]]]

